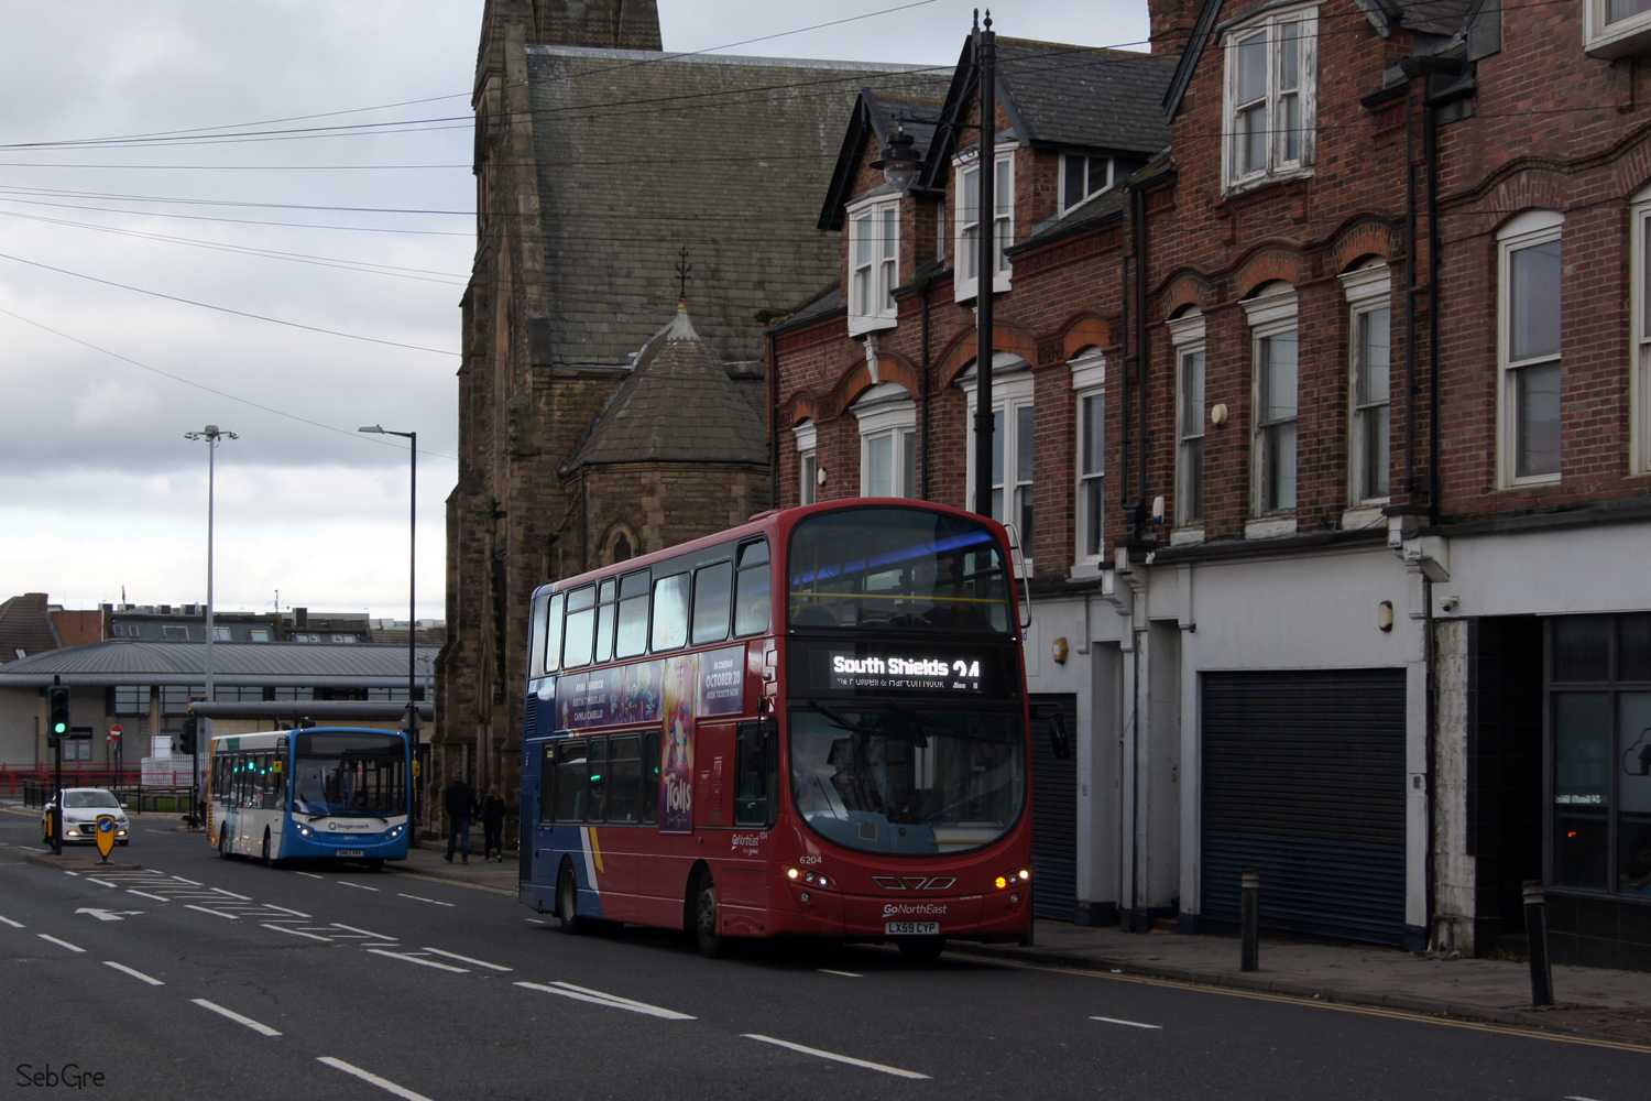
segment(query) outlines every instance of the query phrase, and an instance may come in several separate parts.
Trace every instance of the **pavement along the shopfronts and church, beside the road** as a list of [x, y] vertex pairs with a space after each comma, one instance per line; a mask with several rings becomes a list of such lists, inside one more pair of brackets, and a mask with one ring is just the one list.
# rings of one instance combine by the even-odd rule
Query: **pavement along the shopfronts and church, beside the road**
[[[472, 839], [474, 840], [474, 839]], [[517, 893], [515, 853], [504, 863], [442, 857], [424, 842], [388, 870]], [[1106, 971], [1169, 982], [1232, 987], [1308, 1000], [1369, 1005], [1412, 1014], [1486, 1020], [1522, 1028], [1587, 1035], [1651, 1048], [1651, 972], [1554, 967], [1554, 1007], [1530, 1005], [1524, 959], [1461, 959], [1387, 947], [1261, 939], [1260, 971], [1238, 967], [1238, 939], [1154, 929], [1124, 933], [1062, 921], [1038, 921], [1035, 944], [954, 943], [953, 952], [1012, 962]]]

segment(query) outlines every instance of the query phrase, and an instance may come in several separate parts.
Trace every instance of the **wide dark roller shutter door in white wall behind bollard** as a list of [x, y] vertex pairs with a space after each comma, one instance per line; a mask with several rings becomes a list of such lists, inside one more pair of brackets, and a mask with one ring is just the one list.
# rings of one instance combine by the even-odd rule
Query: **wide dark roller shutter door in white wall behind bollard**
[[1405, 934], [1405, 672], [1204, 673], [1202, 905], [1374, 944]]

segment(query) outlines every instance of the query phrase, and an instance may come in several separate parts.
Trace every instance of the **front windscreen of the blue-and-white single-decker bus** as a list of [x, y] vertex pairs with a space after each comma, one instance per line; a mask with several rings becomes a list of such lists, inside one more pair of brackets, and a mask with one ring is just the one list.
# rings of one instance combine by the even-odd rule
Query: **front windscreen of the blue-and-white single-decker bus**
[[396, 735], [300, 733], [292, 751], [292, 812], [403, 815], [406, 771], [406, 741]]

